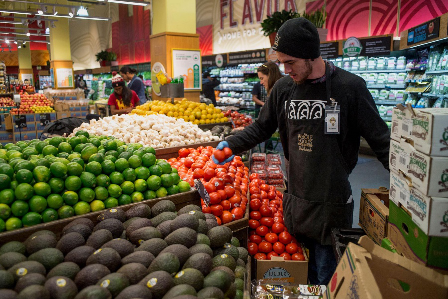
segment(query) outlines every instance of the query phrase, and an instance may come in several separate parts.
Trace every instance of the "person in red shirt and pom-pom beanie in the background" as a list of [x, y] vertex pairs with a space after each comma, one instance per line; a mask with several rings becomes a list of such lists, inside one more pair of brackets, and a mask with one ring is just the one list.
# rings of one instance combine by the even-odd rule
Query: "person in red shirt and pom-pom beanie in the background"
[[127, 114], [139, 105], [137, 93], [126, 87], [123, 77], [112, 72], [112, 87], [114, 92], [109, 96], [108, 105], [112, 115]]

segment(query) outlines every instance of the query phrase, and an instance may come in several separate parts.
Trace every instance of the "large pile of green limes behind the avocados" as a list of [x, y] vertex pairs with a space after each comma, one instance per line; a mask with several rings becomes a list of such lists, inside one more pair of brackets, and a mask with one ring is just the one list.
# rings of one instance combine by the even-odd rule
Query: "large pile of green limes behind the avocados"
[[0, 232], [190, 190], [152, 147], [92, 136], [0, 149]]

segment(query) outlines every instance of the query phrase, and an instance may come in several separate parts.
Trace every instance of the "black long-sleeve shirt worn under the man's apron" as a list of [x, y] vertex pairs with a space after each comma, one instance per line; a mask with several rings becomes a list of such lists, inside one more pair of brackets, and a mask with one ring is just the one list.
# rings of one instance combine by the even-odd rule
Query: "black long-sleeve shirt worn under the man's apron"
[[[361, 136], [366, 139], [378, 160], [389, 169], [390, 131], [381, 119], [364, 79], [337, 67], [331, 79], [331, 97], [341, 108], [340, 134], [336, 135], [336, 138], [350, 173], [358, 161]], [[241, 132], [226, 139], [234, 153], [246, 151], [270, 138], [278, 128], [285, 157], [289, 158], [285, 105], [294, 84], [289, 76], [278, 80], [258, 119]], [[325, 81], [311, 83], [307, 80], [303, 84], [311, 85], [315, 89], [316, 100], [326, 98]], [[296, 88], [300, 89], [300, 85]], [[291, 164], [291, 167], [294, 167], [293, 165]]]

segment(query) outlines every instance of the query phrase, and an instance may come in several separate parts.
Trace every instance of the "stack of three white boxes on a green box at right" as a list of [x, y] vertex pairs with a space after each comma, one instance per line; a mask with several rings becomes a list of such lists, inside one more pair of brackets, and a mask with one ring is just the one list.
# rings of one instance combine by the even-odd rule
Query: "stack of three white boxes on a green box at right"
[[448, 109], [395, 108], [389, 158], [388, 241], [448, 271]]

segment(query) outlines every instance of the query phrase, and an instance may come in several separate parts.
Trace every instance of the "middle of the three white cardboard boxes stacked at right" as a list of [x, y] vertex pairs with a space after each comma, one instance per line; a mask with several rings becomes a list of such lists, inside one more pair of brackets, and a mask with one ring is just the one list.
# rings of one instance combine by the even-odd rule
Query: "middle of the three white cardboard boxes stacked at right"
[[389, 167], [404, 173], [424, 195], [448, 197], [448, 157], [431, 157], [417, 151], [412, 140], [390, 141]]

